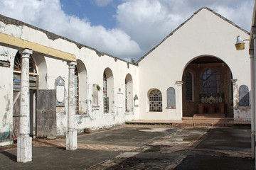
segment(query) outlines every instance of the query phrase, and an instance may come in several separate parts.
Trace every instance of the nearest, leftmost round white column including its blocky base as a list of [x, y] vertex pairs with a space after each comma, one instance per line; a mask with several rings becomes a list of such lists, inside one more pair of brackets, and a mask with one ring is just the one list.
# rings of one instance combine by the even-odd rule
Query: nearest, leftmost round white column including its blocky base
[[17, 139], [17, 162], [32, 161], [32, 137], [29, 117], [29, 57], [32, 50], [22, 50], [21, 53], [21, 109]]

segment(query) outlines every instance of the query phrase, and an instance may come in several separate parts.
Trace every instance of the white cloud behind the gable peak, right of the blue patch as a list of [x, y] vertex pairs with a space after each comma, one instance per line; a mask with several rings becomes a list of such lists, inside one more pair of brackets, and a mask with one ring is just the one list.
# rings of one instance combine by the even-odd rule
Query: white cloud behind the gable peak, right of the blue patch
[[250, 30], [253, 0], [126, 0], [117, 7], [117, 26], [144, 54], [203, 6]]

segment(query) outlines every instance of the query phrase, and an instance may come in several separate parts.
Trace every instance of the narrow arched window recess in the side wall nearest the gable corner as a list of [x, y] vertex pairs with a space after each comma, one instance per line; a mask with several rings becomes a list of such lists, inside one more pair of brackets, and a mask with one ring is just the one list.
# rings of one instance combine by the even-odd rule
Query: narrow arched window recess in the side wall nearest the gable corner
[[127, 74], [124, 80], [125, 84], [125, 111], [133, 111], [133, 82], [132, 75]]

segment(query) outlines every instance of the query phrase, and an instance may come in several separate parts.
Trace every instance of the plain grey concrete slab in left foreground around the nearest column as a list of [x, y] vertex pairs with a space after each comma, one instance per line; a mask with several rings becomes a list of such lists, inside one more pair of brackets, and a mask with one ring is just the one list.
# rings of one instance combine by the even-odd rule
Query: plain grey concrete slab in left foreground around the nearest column
[[33, 161], [17, 163], [16, 153], [16, 149], [0, 152], [0, 169], [85, 169], [119, 154], [102, 150], [33, 147]]

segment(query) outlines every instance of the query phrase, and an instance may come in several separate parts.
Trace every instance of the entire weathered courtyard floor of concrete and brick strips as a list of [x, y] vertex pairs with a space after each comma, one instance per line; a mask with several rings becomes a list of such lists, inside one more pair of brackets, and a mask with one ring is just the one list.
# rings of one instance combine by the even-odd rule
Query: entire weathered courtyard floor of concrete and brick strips
[[121, 125], [65, 138], [33, 139], [33, 161], [16, 162], [16, 145], [0, 147], [0, 169], [255, 169], [250, 127]]

